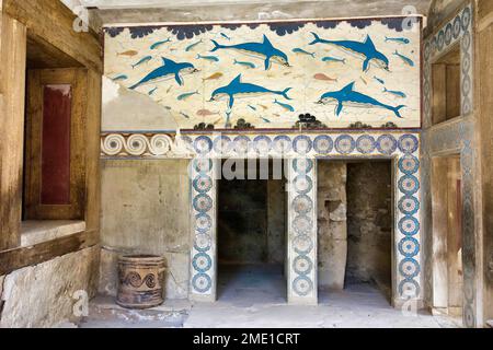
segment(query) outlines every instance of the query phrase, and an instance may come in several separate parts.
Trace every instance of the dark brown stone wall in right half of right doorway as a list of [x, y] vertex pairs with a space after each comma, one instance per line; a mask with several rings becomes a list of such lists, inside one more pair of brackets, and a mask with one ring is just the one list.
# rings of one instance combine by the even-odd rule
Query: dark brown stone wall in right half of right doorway
[[390, 162], [347, 164], [346, 281], [376, 282], [391, 293], [392, 190]]

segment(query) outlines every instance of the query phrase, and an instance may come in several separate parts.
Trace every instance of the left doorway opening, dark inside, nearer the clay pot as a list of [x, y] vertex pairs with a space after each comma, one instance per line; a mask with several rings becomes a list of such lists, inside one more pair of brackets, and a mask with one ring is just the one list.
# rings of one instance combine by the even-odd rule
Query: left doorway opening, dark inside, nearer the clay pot
[[275, 178], [272, 161], [233, 162], [238, 176], [218, 182], [218, 300], [285, 303], [284, 176]]

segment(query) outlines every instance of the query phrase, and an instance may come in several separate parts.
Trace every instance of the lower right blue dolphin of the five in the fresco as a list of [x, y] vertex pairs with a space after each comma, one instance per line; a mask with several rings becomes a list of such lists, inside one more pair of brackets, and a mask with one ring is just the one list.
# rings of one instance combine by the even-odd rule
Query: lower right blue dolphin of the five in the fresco
[[381, 102], [378, 102], [377, 100], [375, 100], [370, 96], [367, 96], [365, 94], [356, 92], [356, 91], [354, 91], [354, 82], [352, 82], [351, 84], [348, 84], [347, 86], [343, 88], [340, 91], [328, 92], [328, 93], [323, 94], [322, 97], [320, 97], [319, 104], [325, 104], [331, 100], [337, 101], [337, 109], [335, 110], [336, 116], [339, 116], [341, 114], [341, 112], [344, 107], [344, 103], [346, 103], [346, 102], [353, 102], [353, 103], [359, 103], [359, 104], [365, 104], [365, 105], [371, 105], [371, 106], [376, 106], [376, 107], [382, 107], [382, 108], [392, 110], [395, 114], [395, 116], [398, 116], [399, 118], [402, 118], [399, 110], [401, 108], [405, 107], [403, 105], [392, 107], [392, 106], [386, 105]]

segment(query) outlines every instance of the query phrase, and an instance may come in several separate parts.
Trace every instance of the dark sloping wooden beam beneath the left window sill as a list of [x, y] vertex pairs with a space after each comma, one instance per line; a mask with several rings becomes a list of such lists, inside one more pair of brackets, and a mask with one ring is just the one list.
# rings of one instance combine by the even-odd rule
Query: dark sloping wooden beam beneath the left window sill
[[84, 231], [33, 246], [2, 252], [0, 253], [0, 276], [92, 247], [98, 243], [98, 232]]

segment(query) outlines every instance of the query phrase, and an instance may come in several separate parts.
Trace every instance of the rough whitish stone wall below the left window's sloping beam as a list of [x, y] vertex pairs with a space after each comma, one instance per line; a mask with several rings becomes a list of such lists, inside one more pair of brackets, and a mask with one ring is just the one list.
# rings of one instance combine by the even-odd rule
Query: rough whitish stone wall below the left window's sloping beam
[[45, 328], [76, 320], [74, 293], [96, 293], [99, 250], [87, 248], [5, 276], [0, 328]]

